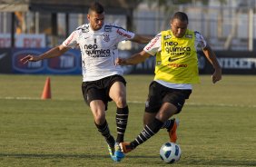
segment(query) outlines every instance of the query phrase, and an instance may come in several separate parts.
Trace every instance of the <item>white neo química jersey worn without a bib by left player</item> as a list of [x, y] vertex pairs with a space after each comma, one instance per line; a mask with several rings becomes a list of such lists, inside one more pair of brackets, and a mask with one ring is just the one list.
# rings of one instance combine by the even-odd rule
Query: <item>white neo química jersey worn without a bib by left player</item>
[[70, 34], [63, 45], [79, 45], [82, 54], [83, 81], [95, 81], [113, 74], [123, 74], [120, 65], [114, 65], [118, 57], [117, 45], [133, 39], [134, 34], [121, 26], [104, 24], [94, 31], [89, 24], [81, 25]]

